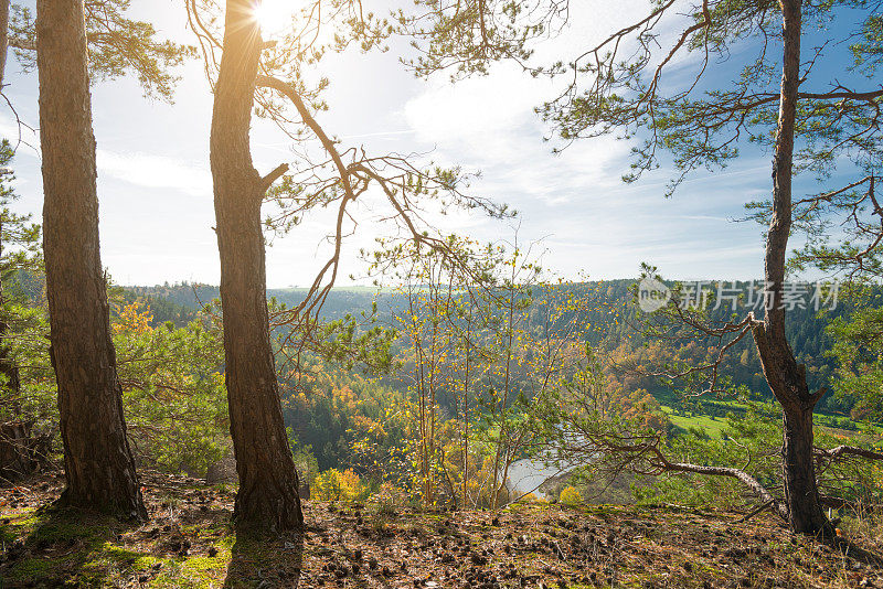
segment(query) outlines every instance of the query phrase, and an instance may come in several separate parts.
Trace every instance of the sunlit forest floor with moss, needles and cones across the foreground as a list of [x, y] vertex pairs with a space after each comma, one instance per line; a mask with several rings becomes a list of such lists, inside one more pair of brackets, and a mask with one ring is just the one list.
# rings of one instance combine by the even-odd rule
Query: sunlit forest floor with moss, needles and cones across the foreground
[[[237, 539], [233, 491], [145, 475], [150, 521], [42, 508], [62, 480], [0, 490], [0, 588], [880, 587], [883, 570], [772, 515], [551, 504], [377, 513], [305, 502], [307, 534]], [[866, 548], [883, 542], [864, 537]]]

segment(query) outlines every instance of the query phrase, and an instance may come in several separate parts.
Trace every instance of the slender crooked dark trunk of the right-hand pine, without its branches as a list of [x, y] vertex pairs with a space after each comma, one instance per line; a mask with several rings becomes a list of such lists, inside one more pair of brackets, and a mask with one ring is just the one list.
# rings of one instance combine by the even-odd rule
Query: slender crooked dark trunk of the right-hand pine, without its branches
[[831, 536], [833, 528], [819, 502], [812, 460], [812, 409], [821, 393], [811, 394], [806, 367], [798, 365], [785, 336], [781, 293], [785, 258], [791, 229], [791, 174], [795, 117], [800, 86], [801, 0], [783, 0], [784, 58], [779, 120], [773, 170], [773, 218], [766, 240], [765, 275], [768, 288], [763, 326], [754, 330], [769, 387], [783, 407], [783, 470], [785, 499], [792, 532]]

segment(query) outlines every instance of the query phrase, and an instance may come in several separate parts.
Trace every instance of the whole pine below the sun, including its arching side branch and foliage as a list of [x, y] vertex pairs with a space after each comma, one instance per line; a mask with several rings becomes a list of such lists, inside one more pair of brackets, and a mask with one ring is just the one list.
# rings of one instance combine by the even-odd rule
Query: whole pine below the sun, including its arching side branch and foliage
[[[224, 324], [225, 381], [231, 436], [240, 489], [234, 517], [243, 531], [284, 532], [304, 525], [298, 478], [285, 433], [270, 326], [286, 325], [286, 347], [322, 347], [329, 335], [318, 313], [338, 278], [343, 240], [357, 228], [353, 205], [369, 191], [376, 196], [372, 221], [392, 224], [403, 237], [446, 249], [425, 231], [426, 201], [435, 211], [449, 206], [501, 210], [459, 191], [460, 174], [434, 169], [400, 154], [372, 156], [363, 147], [343, 148], [317, 119], [319, 94], [310, 86], [317, 64], [329, 52], [358, 44], [377, 46], [389, 23], [364, 12], [359, 2], [307, 2], [290, 26], [265, 41], [259, 1], [189, 0], [214, 89], [210, 159], [214, 180], [217, 245], [221, 257], [221, 306]], [[217, 15], [225, 10], [223, 31]], [[296, 17], [296, 18], [294, 18]], [[333, 34], [329, 34], [329, 32]], [[219, 60], [220, 56], [220, 60]], [[260, 174], [252, 158], [252, 114], [274, 121], [296, 147], [298, 160]], [[267, 217], [262, 206], [269, 202]], [[368, 204], [368, 203], [364, 203]], [[270, 317], [266, 301], [264, 229], [295, 229], [315, 208], [334, 211], [329, 228], [331, 254], [321, 264], [304, 301]]]

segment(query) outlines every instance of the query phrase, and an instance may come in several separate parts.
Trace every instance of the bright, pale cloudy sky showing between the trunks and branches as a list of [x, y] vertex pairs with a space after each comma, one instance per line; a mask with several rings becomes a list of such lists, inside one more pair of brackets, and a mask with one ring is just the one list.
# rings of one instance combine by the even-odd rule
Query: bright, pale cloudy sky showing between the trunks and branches
[[[268, 0], [274, 1], [274, 0]], [[280, 1], [280, 0], [275, 0]], [[568, 30], [540, 51], [561, 55], [585, 39], [614, 30], [642, 12], [641, 1], [579, 2]], [[161, 34], [193, 42], [180, 2], [140, 3], [140, 18]], [[748, 200], [770, 189], [770, 158], [749, 150], [723, 172], [693, 176], [673, 199], [664, 199], [666, 170], [636, 184], [619, 180], [630, 146], [614, 138], [576, 143], [560, 156], [542, 139], [549, 129], [533, 107], [553, 88], [511, 65], [487, 77], [450, 85], [446, 76], [415, 79], [387, 53], [336, 56], [322, 65], [331, 79], [330, 109], [319, 120], [347, 144], [373, 152], [432, 151], [444, 163], [481, 171], [470, 191], [518, 210], [519, 239], [542, 239], [544, 267], [565, 278], [618, 278], [637, 275], [649, 261], [671, 278], [748, 279], [763, 270], [762, 228], [730, 219]], [[102, 257], [123, 285], [163, 281], [217, 283], [220, 269], [212, 231], [209, 173], [211, 95], [199, 62], [180, 71], [175, 104], [142, 97], [134, 79], [98, 84], [93, 114], [98, 144]], [[8, 65], [7, 94], [22, 119], [38, 121], [36, 74]], [[11, 115], [0, 115], [0, 131], [14, 133]], [[25, 131], [24, 139], [33, 144]], [[253, 129], [255, 162], [269, 171], [291, 159], [288, 143], [272, 126]], [[39, 154], [22, 146], [14, 168], [19, 208], [40, 215]], [[329, 216], [319, 212], [267, 255], [269, 287], [304, 286], [323, 260]], [[511, 239], [512, 223], [475, 213], [437, 219], [445, 231], [483, 240]], [[343, 275], [363, 274], [357, 253], [372, 247], [382, 232], [369, 216], [345, 245]], [[347, 283], [343, 280], [341, 283]]]

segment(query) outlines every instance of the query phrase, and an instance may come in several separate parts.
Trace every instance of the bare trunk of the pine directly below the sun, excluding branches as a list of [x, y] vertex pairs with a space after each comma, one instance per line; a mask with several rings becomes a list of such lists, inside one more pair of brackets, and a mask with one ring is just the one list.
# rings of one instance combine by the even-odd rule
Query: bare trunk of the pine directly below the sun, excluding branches
[[298, 478], [283, 422], [269, 341], [260, 204], [267, 182], [252, 163], [249, 127], [262, 40], [253, 0], [227, 0], [212, 116], [211, 163], [230, 431], [240, 529], [300, 529]]

